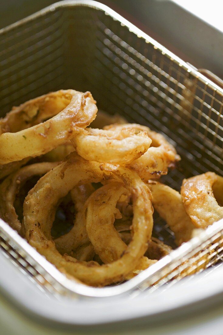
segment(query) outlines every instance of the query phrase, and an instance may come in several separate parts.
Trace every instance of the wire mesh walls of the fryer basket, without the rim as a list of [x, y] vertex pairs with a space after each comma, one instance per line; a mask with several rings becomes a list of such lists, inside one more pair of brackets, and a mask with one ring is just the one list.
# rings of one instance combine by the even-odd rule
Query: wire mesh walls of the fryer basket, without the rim
[[[98, 8], [65, 4], [41, 14], [1, 31], [2, 115], [12, 105], [49, 90], [90, 88], [99, 107], [161, 131], [177, 146], [184, 171], [165, 176], [172, 187], [179, 189], [183, 178], [207, 170], [222, 174], [222, 91]], [[154, 231], [173, 245], [173, 233], [160, 219]], [[0, 244], [13, 258], [14, 247], [6, 242]], [[218, 245], [211, 248], [214, 253], [205, 262], [201, 259], [205, 267], [222, 260]], [[16, 262], [22, 265], [20, 258], [24, 261], [17, 257]], [[44, 285], [36, 264], [30, 266], [31, 277]], [[176, 271], [178, 277], [171, 283], [187, 273]], [[154, 287], [173, 277], [169, 274]]]

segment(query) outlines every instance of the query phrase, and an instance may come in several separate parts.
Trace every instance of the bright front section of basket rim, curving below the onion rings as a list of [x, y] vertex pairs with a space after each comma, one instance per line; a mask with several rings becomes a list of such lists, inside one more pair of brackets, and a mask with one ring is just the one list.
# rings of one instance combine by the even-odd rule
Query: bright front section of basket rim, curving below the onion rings
[[[19, 236], [17, 231], [12, 229], [8, 223], [4, 222], [0, 218], [0, 236], [5, 238], [12, 244], [16, 245], [16, 249], [18, 249], [22, 254], [26, 254], [29, 259], [33, 260], [37, 265], [41, 267], [39, 273], [43, 275], [43, 277], [47, 277], [47, 281], [53, 286], [55, 283], [58, 283], [64, 289], [73, 292], [77, 295], [87, 296], [87, 297], [109, 297], [115, 295], [121, 295], [124, 293], [130, 293], [135, 289], [141, 290], [140, 287], [143, 288], [143, 284], [147, 281], [153, 279], [158, 275], [160, 277], [160, 272], [165, 270], [166, 267], [176, 268], [176, 266], [180, 265], [182, 262], [180, 260], [186, 257], [186, 260], [189, 259], [187, 257], [190, 253], [194, 254], [194, 250], [196, 248], [201, 248], [202, 246], [207, 246], [210, 243], [210, 239], [213, 239], [216, 234], [223, 231], [223, 218], [219, 221], [216, 221], [208, 228], [199, 231], [198, 235], [192, 238], [190, 241], [183, 243], [180, 247], [173, 250], [169, 255], [163, 257], [155, 264], [152, 264], [149, 268], [143, 270], [136, 277], [121, 283], [119, 285], [111, 286], [111, 287], [92, 287], [82, 284], [78, 281], [68, 279], [65, 274], [60, 272], [53, 264], [48, 262], [45, 257], [39, 254], [35, 248], [30, 246], [28, 242]], [[207, 243], [208, 242], [208, 243]], [[179, 262], [179, 264], [177, 264]]]

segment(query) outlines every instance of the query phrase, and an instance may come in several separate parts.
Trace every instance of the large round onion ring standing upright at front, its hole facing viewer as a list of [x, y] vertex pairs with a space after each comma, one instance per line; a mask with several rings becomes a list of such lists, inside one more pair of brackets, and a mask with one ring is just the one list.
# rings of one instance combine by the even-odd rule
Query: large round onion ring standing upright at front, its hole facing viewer
[[[79, 184], [114, 180], [124, 183], [132, 194], [133, 236], [127, 250], [117, 261], [102, 266], [62, 256], [51, 240], [59, 199]], [[86, 284], [103, 286], [118, 282], [136, 267], [146, 251], [153, 225], [151, 200], [151, 192], [136, 173], [122, 166], [86, 161], [71, 153], [67, 161], [43, 176], [26, 197], [23, 206], [25, 237], [49, 262]]]

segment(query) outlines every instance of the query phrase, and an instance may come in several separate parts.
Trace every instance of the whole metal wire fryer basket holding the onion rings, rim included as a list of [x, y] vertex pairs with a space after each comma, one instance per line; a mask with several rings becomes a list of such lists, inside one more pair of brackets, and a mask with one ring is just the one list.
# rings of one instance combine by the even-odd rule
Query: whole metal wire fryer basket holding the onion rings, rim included
[[[164, 179], [222, 174], [223, 91], [108, 7], [63, 1], [0, 30], [1, 116], [13, 105], [60, 88], [90, 90], [97, 106], [162, 132], [177, 147], [183, 170]], [[223, 223], [216, 222], [126, 283], [86, 287], [67, 279], [0, 220], [1, 251], [51, 292], [108, 296], [154, 289], [221, 261]], [[155, 234], [172, 241], [155, 224]]]

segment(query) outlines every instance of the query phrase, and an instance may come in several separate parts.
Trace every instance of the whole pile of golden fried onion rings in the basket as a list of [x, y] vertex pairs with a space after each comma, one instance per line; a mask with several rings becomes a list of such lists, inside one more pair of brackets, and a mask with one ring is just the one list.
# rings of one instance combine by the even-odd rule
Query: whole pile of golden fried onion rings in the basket
[[[150, 128], [98, 112], [90, 92], [51, 92], [0, 119], [0, 217], [69, 278], [128, 280], [168, 255], [153, 208], [180, 246], [223, 217], [223, 178], [158, 180], [180, 160]], [[150, 125], [152, 128], [152, 125]]]

